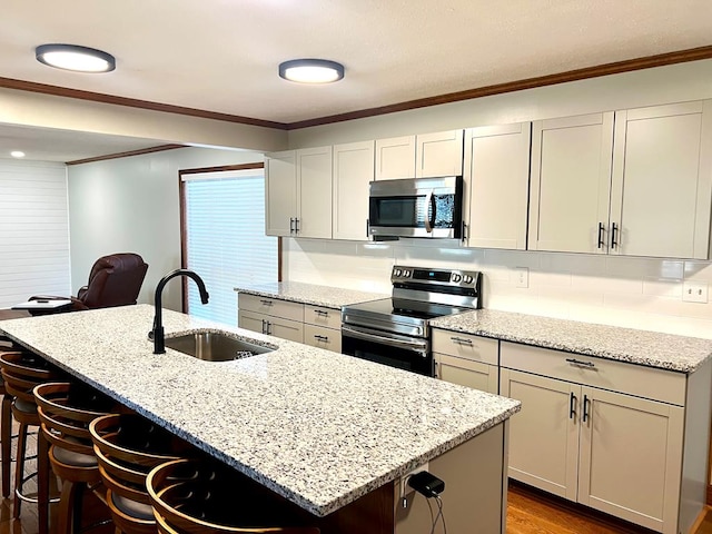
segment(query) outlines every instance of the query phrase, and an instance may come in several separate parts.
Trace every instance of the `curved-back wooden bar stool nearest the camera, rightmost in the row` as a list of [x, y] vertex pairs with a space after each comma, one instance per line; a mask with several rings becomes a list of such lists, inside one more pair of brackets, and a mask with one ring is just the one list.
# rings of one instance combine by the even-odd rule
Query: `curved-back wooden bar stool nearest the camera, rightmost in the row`
[[[275, 525], [274, 500], [225, 464], [176, 459], [154, 468], [146, 487], [162, 534], [319, 534], [310, 526]], [[257, 490], [257, 491], [256, 491]], [[299, 524], [297, 514], [285, 522]]]

